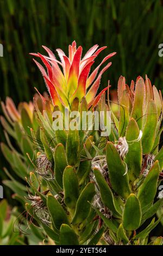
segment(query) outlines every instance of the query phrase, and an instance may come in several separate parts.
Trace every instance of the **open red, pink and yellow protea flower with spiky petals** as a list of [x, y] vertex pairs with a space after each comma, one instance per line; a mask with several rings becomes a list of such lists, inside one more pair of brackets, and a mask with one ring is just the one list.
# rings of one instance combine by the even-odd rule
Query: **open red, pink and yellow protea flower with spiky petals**
[[[43, 64], [45, 64], [47, 72], [43, 66], [35, 59], [34, 62], [40, 69], [43, 78], [45, 79], [48, 92], [51, 95], [54, 105], [58, 106], [70, 106], [74, 98], [78, 97], [79, 101], [82, 97], [86, 97], [88, 107], [95, 107], [101, 98], [102, 94], [108, 88], [104, 88], [97, 96], [97, 90], [101, 80], [103, 72], [105, 72], [111, 65], [109, 62], [98, 74], [102, 64], [109, 58], [114, 56], [116, 52], [107, 55], [97, 66], [97, 68], [89, 75], [91, 66], [95, 62], [95, 58], [103, 51], [106, 46], [98, 49], [98, 45], [94, 45], [89, 51], [82, 57], [82, 46], [77, 48], [76, 42], [73, 41], [72, 45], [68, 47], [68, 57], [61, 50], [57, 49], [60, 61], [55, 58], [54, 53], [42, 46], [48, 53], [47, 56], [43, 56], [40, 53], [30, 53], [36, 57], [40, 57]], [[60, 65], [60, 66], [59, 66]], [[61, 69], [60, 69], [61, 67]]]

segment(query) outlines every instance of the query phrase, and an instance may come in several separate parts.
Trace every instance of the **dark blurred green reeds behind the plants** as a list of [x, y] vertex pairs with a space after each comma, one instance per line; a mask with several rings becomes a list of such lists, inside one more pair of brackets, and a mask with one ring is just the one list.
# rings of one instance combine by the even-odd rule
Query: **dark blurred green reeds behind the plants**
[[104, 74], [116, 88], [120, 75], [127, 83], [147, 74], [162, 88], [163, 1], [161, 0], [0, 0], [1, 98], [16, 103], [30, 100], [34, 86], [42, 93], [45, 84], [29, 52], [44, 53], [41, 45], [67, 53], [73, 40], [84, 53], [93, 45], [108, 46], [97, 58], [116, 51]]

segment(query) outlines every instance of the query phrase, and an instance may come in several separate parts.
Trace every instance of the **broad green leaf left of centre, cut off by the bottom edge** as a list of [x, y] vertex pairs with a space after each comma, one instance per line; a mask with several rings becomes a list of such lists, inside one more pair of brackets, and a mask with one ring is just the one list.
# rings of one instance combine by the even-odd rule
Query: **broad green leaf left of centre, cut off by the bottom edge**
[[77, 234], [67, 224], [60, 227], [60, 245], [79, 245]]

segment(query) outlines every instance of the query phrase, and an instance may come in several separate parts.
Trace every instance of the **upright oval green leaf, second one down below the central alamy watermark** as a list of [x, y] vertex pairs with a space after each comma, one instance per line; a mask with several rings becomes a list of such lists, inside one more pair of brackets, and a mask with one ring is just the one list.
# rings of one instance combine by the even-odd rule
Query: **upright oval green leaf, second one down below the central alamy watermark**
[[65, 204], [68, 208], [74, 209], [79, 197], [78, 178], [71, 166], [67, 166], [63, 176]]

